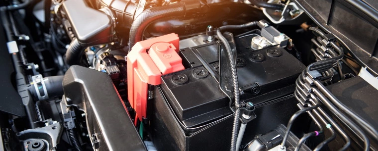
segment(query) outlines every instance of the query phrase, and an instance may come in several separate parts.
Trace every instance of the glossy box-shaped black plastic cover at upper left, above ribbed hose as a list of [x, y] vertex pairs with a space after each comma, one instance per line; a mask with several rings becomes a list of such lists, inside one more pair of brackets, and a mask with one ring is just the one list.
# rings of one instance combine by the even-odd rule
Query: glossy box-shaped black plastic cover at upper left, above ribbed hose
[[66, 0], [62, 7], [79, 43], [99, 45], [111, 41], [114, 31], [110, 16], [88, 7], [84, 0]]

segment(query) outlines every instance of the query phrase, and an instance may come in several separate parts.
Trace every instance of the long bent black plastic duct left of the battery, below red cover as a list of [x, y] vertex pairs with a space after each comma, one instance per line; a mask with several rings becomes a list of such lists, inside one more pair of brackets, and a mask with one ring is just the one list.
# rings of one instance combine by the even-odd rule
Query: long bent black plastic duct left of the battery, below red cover
[[103, 72], [71, 66], [63, 78], [64, 100], [86, 112], [89, 135], [97, 151], [147, 151], [124, 102]]

